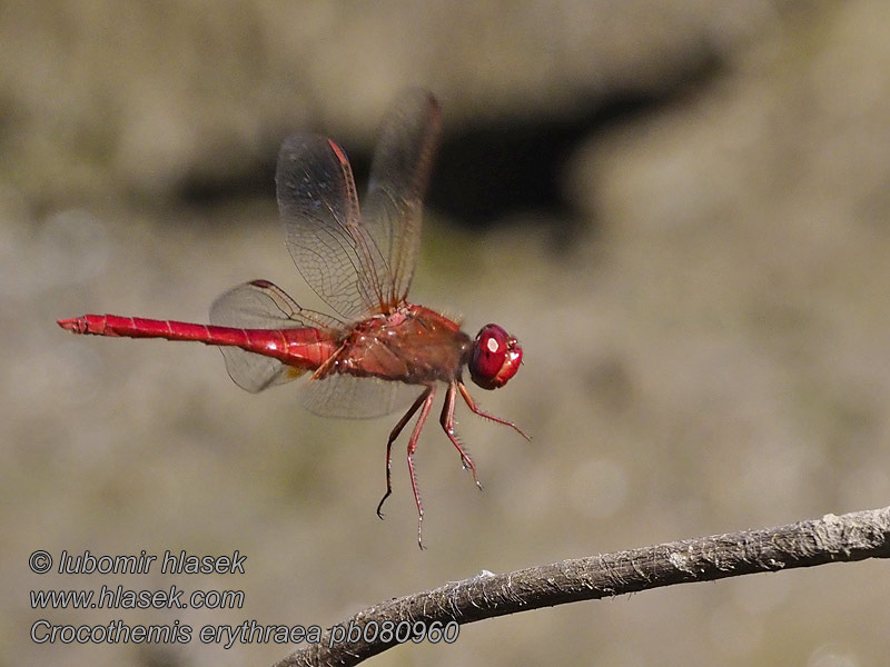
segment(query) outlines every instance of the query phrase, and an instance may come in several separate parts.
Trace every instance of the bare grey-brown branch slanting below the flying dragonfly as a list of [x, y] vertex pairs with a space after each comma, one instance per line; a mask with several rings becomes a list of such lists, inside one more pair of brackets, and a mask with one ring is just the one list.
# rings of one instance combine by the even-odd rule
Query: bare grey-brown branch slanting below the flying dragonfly
[[337, 638], [332, 635], [335, 628], [350, 624], [360, 628], [376, 621], [383, 627], [385, 621], [407, 620], [443, 627], [452, 621], [473, 623], [674, 584], [867, 558], [890, 558], [890, 507], [563, 560], [503, 575], [483, 571], [365, 609], [328, 629], [320, 643], [291, 654], [275, 667], [357, 665], [397, 645], [363, 639], [332, 641]]

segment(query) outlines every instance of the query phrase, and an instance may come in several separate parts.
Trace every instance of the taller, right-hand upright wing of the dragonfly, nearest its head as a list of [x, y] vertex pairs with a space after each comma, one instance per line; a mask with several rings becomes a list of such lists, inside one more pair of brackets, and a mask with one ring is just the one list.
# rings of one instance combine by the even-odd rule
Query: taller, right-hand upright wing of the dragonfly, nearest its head
[[363, 225], [386, 263], [387, 270], [378, 276], [384, 305], [404, 300], [414, 276], [439, 117], [429, 92], [406, 90], [386, 119], [374, 153]]

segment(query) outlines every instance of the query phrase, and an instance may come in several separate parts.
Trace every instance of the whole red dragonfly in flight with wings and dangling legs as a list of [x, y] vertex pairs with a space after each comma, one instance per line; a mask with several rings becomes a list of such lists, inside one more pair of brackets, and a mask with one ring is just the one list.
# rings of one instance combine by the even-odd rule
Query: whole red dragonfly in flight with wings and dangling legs
[[271, 282], [253, 280], [214, 302], [209, 326], [116, 315], [85, 315], [59, 325], [75, 334], [220, 346], [229, 376], [248, 391], [312, 371], [304, 402], [319, 415], [374, 417], [414, 399], [386, 442], [386, 492], [377, 515], [383, 518], [393, 491], [393, 442], [419, 411], [407, 458], [423, 548], [414, 451], [438, 382], [447, 387], [439, 424], [477, 486], [476, 468], [455, 435], [458, 394], [476, 415], [527, 438], [512, 421], [482, 411], [463, 381], [466, 367], [483, 389], [503, 387], [522, 361], [516, 339], [497, 325], [485, 325], [473, 339], [457, 322], [406, 300], [438, 132], [435, 98], [422, 90], [404, 92], [384, 123], [360, 213], [349, 160], [339, 145], [298, 133], [281, 146], [275, 181], [285, 243], [335, 316], [300, 308]]

